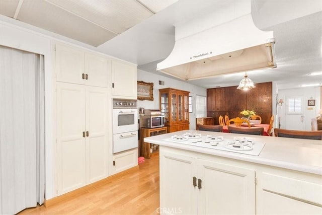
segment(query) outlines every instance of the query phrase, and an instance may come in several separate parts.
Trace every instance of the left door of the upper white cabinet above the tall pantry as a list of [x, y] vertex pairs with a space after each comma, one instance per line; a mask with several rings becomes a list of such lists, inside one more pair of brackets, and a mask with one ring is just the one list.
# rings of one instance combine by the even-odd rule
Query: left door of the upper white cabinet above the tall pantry
[[83, 51], [56, 44], [56, 80], [85, 84], [85, 54]]

